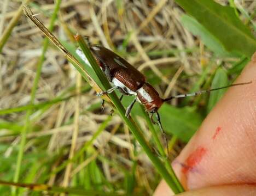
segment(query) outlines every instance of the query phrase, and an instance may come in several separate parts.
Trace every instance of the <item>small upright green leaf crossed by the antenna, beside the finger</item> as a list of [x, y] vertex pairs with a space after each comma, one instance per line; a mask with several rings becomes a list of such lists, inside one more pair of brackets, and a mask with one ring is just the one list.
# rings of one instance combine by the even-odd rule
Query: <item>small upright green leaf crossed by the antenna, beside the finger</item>
[[[219, 88], [219, 87], [225, 87], [228, 85], [228, 76], [226, 75], [226, 72], [222, 68], [218, 68], [216, 71], [216, 74], [213, 78], [211, 89], [213, 88]], [[216, 91], [212, 91], [210, 94], [210, 98], [207, 105], [207, 112], [209, 113], [212, 108], [216, 105], [216, 103], [220, 100], [220, 98], [225, 93], [226, 89], [220, 89]]]

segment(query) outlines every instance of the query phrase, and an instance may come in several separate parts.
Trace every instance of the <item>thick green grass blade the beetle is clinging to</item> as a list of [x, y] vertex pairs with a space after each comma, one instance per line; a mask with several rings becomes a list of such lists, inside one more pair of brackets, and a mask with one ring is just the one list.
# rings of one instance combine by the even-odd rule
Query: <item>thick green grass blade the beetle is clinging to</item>
[[[96, 72], [98, 78], [100, 79], [104, 90], [110, 89], [111, 85], [106, 78], [106, 76], [103, 74], [102, 70], [100, 69], [100, 66], [97, 65], [95, 62], [94, 57], [92, 56], [89, 47], [86, 45], [85, 41], [83, 40], [82, 36], [76, 35], [75, 39], [77, 40], [80, 48], [84, 52], [85, 56], [88, 58], [89, 63], [91, 64], [92, 68]], [[149, 147], [147, 141], [144, 139], [142, 136], [142, 132], [138, 129], [138, 127], [135, 125], [133, 122], [132, 118], [126, 118], [125, 117], [125, 109], [121, 102], [119, 101], [119, 98], [117, 94], [114, 92], [109, 94], [110, 100], [112, 100], [114, 106], [117, 108], [117, 111], [120, 114], [120, 117], [125, 121], [129, 129], [131, 130], [133, 136], [137, 139], [139, 144], [141, 144], [143, 150], [146, 152], [158, 172], [161, 174], [161, 176], [165, 179], [167, 184], [172, 188], [174, 193], [181, 193], [183, 192], [183, 187], [181, 186], [180, 183], [178, 183], [177, 177], [174, 175], [174, 172], [172, 174], [167, 172], [167, 169], [165, 166], [162, 164], [162, 162], [159, 160], [158, 157], [154, 155], [154, 152], [152, 149]]]

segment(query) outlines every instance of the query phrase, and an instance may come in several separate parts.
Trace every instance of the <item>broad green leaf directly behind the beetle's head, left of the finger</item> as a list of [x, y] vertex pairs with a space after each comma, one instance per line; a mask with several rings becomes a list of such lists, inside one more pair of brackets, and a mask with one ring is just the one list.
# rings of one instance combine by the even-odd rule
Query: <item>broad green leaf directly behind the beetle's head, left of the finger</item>
[[195, 107], [176, 108], [164, 104], [159, 113], [164, 130], [184, 142], [189, 141], [202, 122], [202, 117], [196, 113]]

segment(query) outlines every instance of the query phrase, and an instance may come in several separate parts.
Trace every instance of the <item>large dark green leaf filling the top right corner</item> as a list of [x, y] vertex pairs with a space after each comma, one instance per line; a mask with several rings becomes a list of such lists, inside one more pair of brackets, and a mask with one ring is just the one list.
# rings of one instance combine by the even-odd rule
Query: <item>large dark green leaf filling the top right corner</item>
[[238, 19], [233, 8], [212, 0], [175, 0], [188, 14], [211, 32], [228, 52], [251, 57], [256, 51], [256, 40]]

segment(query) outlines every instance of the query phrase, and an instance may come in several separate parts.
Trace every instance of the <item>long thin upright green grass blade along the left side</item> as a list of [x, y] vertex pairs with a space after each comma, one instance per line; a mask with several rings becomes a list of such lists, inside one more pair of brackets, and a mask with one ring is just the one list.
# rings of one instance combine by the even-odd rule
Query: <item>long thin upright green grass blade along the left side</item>
[[[25, 1], [25, 3], [26, 3], [26, 1]], [[55, 20], [57, 19], [57, 13], [60, 9], [60, 4], [61, 4], [61, 0], [56, 0], [54, 12], [53, 12], [53, 15], [51, 16], [51, 20], [50, 20], [50, 26], [49, 26], [50, 31], [52, 31], [54, 28], [54, 23], [55, 23]], [[21, 9], [21, 11], [22, 11], [22, 9]], [[32, 91], [31, 91], [31, 100], [30, 100], [31, 105], [33, 105], [35, 97], [36, 97], [36, 91], [37, 91], [37, 87], [38, 87], [39, 78], [41, 75], [42, 65], [44, 62], [45, 53], [46, 53], [48, 46], [49, 46], [49, 40], [48, 40], [48, 38], [45, 38], [44, 42], [43, 42], [42, 54], [41, 54], [38, 64], [37, 64], [36, 77], [34, 78], [33, 87], [32, 87]], [[28, 129], [30, 128], [30, 115], [31, 114], [32, 114], [32, 109], [30, 109], [26, 114], [25, 126], [21, 132], [21, 141], [20, 141], [20, 148], [19, 148], [16, 168], [15, 168], [14, 182], [18, 182], [18, 180], [19, 180], [21, 162], [22, 162], [22, 157], [23, 157], [24, 148], [25, 148], [25, 144], [26, 144], [26, 135], [27, 135]], [[12, 193], [14, 195], [16, 194], [16, 188], [14, 188], [12, 190]]]

